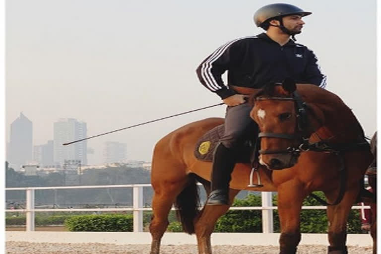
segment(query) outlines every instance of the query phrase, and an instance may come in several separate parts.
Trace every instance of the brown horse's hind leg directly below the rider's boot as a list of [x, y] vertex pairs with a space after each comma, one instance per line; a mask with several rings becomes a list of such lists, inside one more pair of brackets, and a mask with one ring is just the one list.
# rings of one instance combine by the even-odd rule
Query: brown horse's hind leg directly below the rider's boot
[[[229, 190], [230, 204], [233, 203], [234, 197], [240, 192], [239, 190]], [[210, 235], [214, 230], [214, 226], [219, 217], [224, 215], [229, 209], [228, 205], [205, 205], [200, 216], [194, 223], [194, 230], [197, 237], [198, 254], [212, 254], [210, 244]]]

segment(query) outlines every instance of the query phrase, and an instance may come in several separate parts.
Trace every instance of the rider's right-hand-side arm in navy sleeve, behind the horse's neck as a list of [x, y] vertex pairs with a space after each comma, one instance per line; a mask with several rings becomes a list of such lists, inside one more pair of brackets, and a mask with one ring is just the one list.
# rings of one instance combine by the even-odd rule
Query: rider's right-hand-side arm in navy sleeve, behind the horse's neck
[[307, 49], [307, 66], [304, 71], [303, 80], [309, 84], [315, 84], [321, 88], [325, 88], [327, 77], [321, 73], [318, 65], [318, 58], [314, 52]]

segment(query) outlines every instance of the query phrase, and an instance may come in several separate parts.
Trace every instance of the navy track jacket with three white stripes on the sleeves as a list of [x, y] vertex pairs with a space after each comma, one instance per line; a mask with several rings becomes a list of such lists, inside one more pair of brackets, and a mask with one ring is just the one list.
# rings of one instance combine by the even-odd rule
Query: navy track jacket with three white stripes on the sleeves
[[[317, 62], [315, 54], [306, 46], [291, 39], [280, 46], [261, 33], [222, 45], [196, 72], [206, 88], [225, 99], [235, 94], [230, 85], [261, 88], [268, 83], [282, 82], [286, 77], [324, 88], [326, 76], [320, 72]], [[228, 84], [221, 77], [226, 70]]]

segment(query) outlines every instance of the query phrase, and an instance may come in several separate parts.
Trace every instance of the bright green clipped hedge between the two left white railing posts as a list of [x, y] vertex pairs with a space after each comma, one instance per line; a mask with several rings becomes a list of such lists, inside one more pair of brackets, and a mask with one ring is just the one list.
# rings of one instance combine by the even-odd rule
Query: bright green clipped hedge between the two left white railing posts
[[76, 215], [65, 220], [69, 231], [126, 232], [133, 230], [130, 214]]

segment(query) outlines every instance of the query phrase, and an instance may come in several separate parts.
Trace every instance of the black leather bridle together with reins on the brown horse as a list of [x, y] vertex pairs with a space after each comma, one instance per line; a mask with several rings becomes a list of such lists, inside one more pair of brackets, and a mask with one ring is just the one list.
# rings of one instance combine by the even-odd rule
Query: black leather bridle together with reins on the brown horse
[[[307, 117], [307, 104], [302, 100], [299, 94], [294, 91], [292, 97], [257, 97], [256, 100], [280, 100], [280, 101], [294, 101], [295, 102], [295, 112], [297, 118], [297, 133], [289, 134], [289, 133], [273, 133], [273, 132], [260, 132], [258, 134], [258, 139], [262, 137], [273, 137], [273, 138], [284, 138], [291, 140], [299, 140], [300, 143], [296, 146], [289, 146], [286, 149], [278, 149], [278, 150], [259, 150], [259, 154], [285, 154], [290, 153], [292, 156], [299, 156], [301, 152], [307, 151], [316, 151], [316, 152], [324, 152], [324, 153], [332, 153], [339, 157], [340, 160], [340, 169], [341, 173], [340, 179], [340, 189], [336, 200], [333, 203], [327, 203], [325, 200], [321, 199], [314, 193], [311, 193], [310, 196], [314, 197], [318, 202], [322, 205], [336, 205], [341, 202], [345, 193], [345, 183], [347, 180], [347, 172], [346, 165], [344, 160], [343, 153], [346, 151], [351, 151], [358, 149], [361, 146], [369, 146], [368, 142], [359, 142], [359, 143], [350, 143], [350, 144], [340, 144], [333, 145], [329, 144], [325, 141], [319, 141], [316, 143], [309, 142], [309, 122]], [[291, 160], [290, 160], [291, 161]]]

